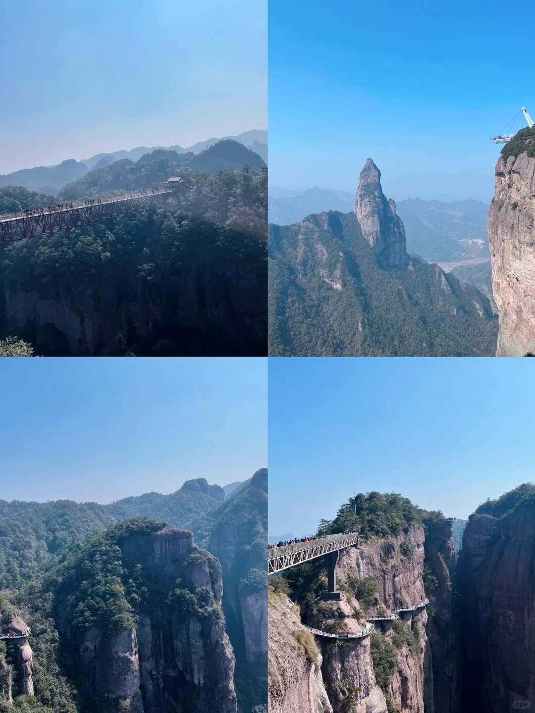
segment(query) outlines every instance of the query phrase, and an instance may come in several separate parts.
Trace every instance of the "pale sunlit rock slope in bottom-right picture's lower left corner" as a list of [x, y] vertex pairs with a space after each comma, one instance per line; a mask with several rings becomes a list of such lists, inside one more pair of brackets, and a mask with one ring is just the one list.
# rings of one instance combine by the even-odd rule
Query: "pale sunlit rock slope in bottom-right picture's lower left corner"
[[268, 650], [270, 713], [332, 713], [314, 637], [302, 626], [299, 607], [271, 589]]

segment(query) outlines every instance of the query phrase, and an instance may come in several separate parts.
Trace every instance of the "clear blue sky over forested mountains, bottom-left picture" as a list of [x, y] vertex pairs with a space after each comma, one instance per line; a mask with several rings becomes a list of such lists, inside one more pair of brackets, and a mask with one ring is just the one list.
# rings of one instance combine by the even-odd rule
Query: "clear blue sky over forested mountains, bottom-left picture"
[[0, 497], [106, 503], [267, 463], [266, 359], [1, 359]]

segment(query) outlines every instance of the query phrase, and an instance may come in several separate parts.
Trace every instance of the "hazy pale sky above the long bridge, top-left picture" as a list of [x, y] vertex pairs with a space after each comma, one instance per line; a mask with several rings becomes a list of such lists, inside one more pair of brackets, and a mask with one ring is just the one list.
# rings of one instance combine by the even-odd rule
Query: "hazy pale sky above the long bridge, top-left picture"
[[267, 128], [267, 0], [24, 0], [0, 26], [0, 174]]

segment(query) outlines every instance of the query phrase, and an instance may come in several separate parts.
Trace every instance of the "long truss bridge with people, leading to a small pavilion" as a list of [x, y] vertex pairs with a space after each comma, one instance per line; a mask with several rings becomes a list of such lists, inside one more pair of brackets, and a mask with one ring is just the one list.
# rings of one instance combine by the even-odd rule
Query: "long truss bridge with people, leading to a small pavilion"
[[78, 203], [63, 210], [42, 209], [26, 211], [24, 214], [0, 215], [0, 242], [13, 242], [44, 233], [52, 235], [78, 225], [114, 218], [140, 205], [148, 205], [155, 198], [173, 193], [176, 193], [176, 189], [165, 188], [152, 192], [129, 193], [101, 202]]

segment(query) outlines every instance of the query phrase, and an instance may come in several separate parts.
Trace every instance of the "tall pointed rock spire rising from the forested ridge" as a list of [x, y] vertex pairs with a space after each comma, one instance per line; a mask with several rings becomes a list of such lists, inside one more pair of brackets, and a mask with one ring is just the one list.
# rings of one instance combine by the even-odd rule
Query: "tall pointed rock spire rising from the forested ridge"
[[379, 265], [404, 270], [409, 265], [405, 229], [396, 215], [396, 204], [392, 199], [387, 200], [382, 192], [381, 172], [371, 158], [366, 159], [360, 172], [355, 215]]

